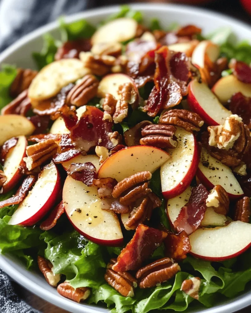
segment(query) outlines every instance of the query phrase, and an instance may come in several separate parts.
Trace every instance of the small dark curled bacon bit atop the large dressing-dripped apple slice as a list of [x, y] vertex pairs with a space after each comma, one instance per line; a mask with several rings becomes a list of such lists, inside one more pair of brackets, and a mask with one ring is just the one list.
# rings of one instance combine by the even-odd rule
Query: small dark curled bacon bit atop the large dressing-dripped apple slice
[[68, 168], [67, 174], [89, 187], [93, 185], [93, 180], [97, 179], [96, 167], [91, 162], [83, 164], [72, 163]]

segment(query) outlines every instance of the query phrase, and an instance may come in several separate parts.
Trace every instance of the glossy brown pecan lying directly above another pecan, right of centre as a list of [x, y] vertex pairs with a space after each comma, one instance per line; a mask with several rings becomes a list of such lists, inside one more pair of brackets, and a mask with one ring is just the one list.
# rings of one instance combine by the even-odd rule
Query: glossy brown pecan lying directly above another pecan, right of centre
[[159, 118], [159, 124], [174, 125], [186, 131], [199, 131], [204, 121], [194, 112], [184, 109], [173, 109], [164, 112]]

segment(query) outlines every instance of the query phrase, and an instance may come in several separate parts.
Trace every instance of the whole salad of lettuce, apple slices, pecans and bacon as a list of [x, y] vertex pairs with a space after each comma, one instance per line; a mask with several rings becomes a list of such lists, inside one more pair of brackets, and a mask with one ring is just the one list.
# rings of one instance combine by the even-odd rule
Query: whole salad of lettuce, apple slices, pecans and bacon
[[[111, 312], [251, 280], [251, 46], [123, 6], [0, 72], [0, 252]], [[247, 286], [248, 287], [248, 286]]]

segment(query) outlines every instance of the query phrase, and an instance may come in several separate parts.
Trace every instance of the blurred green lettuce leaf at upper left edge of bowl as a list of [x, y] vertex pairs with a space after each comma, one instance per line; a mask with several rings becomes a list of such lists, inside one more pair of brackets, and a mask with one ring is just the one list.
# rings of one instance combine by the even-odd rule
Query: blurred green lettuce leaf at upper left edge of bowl
[[0, 71], [0, 110], [7, 105], [12, 98], [9, 95], [9, 88], [17, 75], [15, 66], [4, 64]]

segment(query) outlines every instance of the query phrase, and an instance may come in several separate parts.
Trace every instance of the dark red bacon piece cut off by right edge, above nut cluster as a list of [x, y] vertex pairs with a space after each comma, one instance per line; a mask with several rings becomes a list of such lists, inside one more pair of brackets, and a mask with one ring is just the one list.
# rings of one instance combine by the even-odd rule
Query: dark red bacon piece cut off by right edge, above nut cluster
[[239, 115], [243, 123], [251, 129], [251, 98], [238, 92], [231, 97], [229, 102], [229, 110], [232, 111], [232, 114]]

